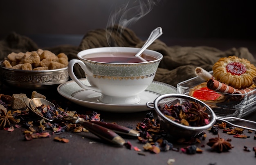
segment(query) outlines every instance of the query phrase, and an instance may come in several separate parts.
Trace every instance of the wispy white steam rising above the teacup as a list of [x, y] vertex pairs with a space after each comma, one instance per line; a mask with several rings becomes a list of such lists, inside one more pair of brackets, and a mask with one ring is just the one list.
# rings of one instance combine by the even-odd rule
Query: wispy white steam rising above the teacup
[[[140, 18], [147, 15], [160, 0], [131, 0], [127, 4], [122, 4], [114, 9], [108, 18], [107, 27], [119, 24], [119, 35], [122, 34], [124, 27], [129, 27], [137, 22]], [[112, 29], [108, 29], [106, 37], [109, 40]], [[117, 35], [117, 34], [115, 34]], [[110, 43], [109, 43], [110, 44]]]

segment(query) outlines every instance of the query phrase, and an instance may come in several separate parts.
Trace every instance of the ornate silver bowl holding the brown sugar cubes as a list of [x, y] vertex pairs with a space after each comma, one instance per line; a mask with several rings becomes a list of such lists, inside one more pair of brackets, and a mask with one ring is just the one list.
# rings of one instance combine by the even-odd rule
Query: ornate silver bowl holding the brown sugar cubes
[[17, 88], [47, 89], [69, 79], [67, 67], [54, 70], [19, 70], [6, 68], [0, 62], [2, 84]]

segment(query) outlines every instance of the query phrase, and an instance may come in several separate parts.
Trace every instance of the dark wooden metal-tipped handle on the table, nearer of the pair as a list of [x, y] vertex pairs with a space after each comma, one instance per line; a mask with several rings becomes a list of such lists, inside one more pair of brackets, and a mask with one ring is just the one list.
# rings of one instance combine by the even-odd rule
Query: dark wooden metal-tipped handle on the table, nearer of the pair
[[101, 125], [84, 121], [82, 118], [78, 118], [75, 123], [83, 125], [87, 130], [89, 130], [101, 139], [118, 145], [124, 145], [125, 143], [125, 140], [121, 136], [108, 128], [102, 127]]

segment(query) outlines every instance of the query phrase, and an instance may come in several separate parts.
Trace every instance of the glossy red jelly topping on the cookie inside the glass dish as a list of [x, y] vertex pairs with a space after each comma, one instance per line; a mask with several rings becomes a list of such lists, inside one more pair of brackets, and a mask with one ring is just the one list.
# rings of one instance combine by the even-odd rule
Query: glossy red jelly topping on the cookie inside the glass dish
[[[206, 90], [206, 91], [202, 91]], [[211, 92], [208, 92], [211, 91]], [[200, 90], [195, 90], [193, 92], [193, 97], [200, 99], [200, 100], [217, 100], [221, 95], [215, 92], [214, 90], [210, 90], [207, 87], [202, 87]]]

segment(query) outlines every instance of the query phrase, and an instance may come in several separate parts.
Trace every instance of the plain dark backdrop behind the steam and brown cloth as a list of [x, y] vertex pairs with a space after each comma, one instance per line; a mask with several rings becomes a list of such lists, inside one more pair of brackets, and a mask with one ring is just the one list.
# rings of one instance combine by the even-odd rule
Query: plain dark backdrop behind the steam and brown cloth
[[[132, 4], [134, 0], [130, 0]], [[144, 0], [145, 2], [145, 0]], [[183, 39], [256, 40], [256, 11], [251, 0], [160, 0], [128, 28], [142, 39], [161, 26], [166, 41]], [[106, 28], [110, 12], [128, 0], [1, 0], [0, 38], [11, 31], [34, 40], [60, 36], [79, 44], [92, 29]], [[40, 41], [38, 41], [40, 42]], [[49, 43], [50, 44], [50, 43]], [[40, 45], [40, 43], [39, 43]]]

